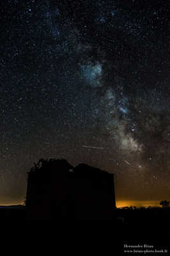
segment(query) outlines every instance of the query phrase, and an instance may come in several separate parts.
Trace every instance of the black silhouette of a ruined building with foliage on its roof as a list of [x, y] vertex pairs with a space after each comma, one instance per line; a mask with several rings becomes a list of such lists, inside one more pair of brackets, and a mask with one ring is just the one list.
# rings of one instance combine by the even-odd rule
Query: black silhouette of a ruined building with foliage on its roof
[[65, 159], [40, 159], [28, 173], [27, 220], [113, 220], [113, 174]]

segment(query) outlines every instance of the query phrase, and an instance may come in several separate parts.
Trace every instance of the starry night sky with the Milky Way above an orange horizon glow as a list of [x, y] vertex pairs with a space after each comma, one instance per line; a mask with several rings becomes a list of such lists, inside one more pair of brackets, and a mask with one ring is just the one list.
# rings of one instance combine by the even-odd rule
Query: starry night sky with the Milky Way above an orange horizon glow
[[53, 157], [170, 200], [168, 1], [3, 0], [0, 21], [0, 204]]

